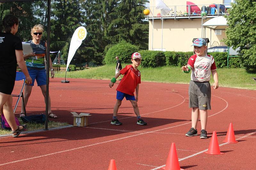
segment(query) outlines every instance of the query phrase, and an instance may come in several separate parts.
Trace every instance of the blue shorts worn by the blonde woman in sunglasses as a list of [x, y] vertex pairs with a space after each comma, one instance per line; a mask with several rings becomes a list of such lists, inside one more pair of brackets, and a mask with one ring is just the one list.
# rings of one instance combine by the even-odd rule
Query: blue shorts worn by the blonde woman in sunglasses
[[37, 86], [43, 86], [46, 85], [46, 70], [34, 70], [28, 68], [28, 73], [30, 77], [32, 78], [32, 83], [27, 86], [34, 86], [34, 82], [36, 80]]

